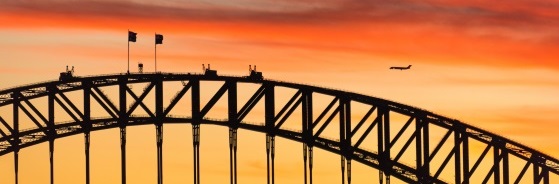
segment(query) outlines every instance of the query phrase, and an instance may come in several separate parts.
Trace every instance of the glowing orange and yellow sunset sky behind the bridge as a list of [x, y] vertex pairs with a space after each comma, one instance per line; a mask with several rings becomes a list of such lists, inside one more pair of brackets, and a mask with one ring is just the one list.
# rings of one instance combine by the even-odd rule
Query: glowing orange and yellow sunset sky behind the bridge
[[[325, 86], [420, 107], [558, 156], [559, 137], [554, 128], [559, 120], [558, 10], [559, 2], [554, 0], [1, 0], [0, 88], [55, 80], [67, 65], [74, 66], [80, 76], [125, 72], [127, 30], [138, 33], [138, 41], [130, 43], [130, 70], [137, 71], [137, 63], [142, 62], [144, 71], [154, 71], [154, 34], [158, 33], [164, 35], [163, 44], [157, 46], [159, 71], [201, 72], [201, 64], [209, 63], [219, 74], [246, 75], [248, 65], [257, 65], [267, 79]], [[407, 71], [388, 69], [407, 65], [413, 66]], [[131, 131], [136, 129], [138, 134], [153, 131], [153, 127]], [[176, 163], [167, 166], [169, 182], [191, 178], [180, 174], [185, 169], [190, 173], [190, 159], [174, 159], [179, 153], [191, 154], [190, 142], [172, 141], [173, 135], [188, 140], [189, 126], [174, 129], [183, 129], [188, 136], [173, 134], [173, 130], [166, 134], [168, 149], [177, 149], [165, 157]], [[227, 151], [227, 130], [209, 127], [207, 131], [221, 133], [224, 139], [212, 140], [215, 144], [203, 149], [212, 152], [210, 148], [215, 146]], [[114, 147], [94, 156], [117, 160], [117, 133], [94, 133], [101, 148]], [[261, 134], [241, 133], [240, 139], [261, 136], [264, 141]], [[82, 139], [60, 140], [67, 146], [57, 154], [81, 155], [83, 150], [70, 148], [81, 145]], [[150, 141], [151, 137], [130, 143], [138, 146], [131, 149], [152, 149], [155, 143]], [[223, 148], [216, 146], [219, 144]], [[281, 144], [300, 146], [289, 141]], [[181, 146], [185, 148], [179, 149]], [[46, 147], [28, 149], [45, 151]], [[27, 177], [27, 182], [47, 182], [48, 155], [31, 152], [22, 153], [32, 157], [25, 162], [42, 160], [44, 167], [37, 170], [44, 176]], [[317, 154], [319, 160], [338, 159], [325, 152]], [[146, 153], [137, 159], [139, 163], [155, 160], [154, 155]], [[250, 159], [246, 152], [240, 155], [248, 168], [241, 170], [246, 175], [244, 183], [264, 181], [261, 155], [262, 159]], [[285, 165], [278, 165], [284, 169], [283, 181], [302, 182], [299, 173], [288, 169], [302, 169], [299, 156], [293, 156], [297, 161], [283, 157]], [[226, 156], [216, 157], [228, 163]], [[118, 172], [118, 165], [103, 160], [93, 167]], [[81, 162], [60, 162], [60, 183], [83, 181], [80, 170], [68, 169], [82, 167]], [[228, 181], [227, 164], [215, 162], [216, 167], [224, 167], [214, 169], [210, 164], [203, 168], [207, 173], [203, 177], [208, 182], [210, 178]], [[5, 171], [10, 171], [11, 163], [10, 155], [0, 158]], [[130, 167], [143, 168], [136, 164]], [[155, 163], [147, 165], [151, 170], [129, 174], [138, 176], [131, 181], [155, 182]], [[315, 176], [329, 181], [329, 177], [335, 178], [331, 173], [339, 174], [338, 165], [336, 161], [330, 170], [317, 171]], [[355, 167], [355, 172], [372, 170]], [[35, 172], [31, 168], [24, 167], [22, 174], [30, 176], [25, 170]], [[64, 172], [76, 172], [79, 177], [67, 179]], [[100, 171], [95, 176], [96, 183], [118, 181], [110, 180], [118, 175], [102, 177]]]

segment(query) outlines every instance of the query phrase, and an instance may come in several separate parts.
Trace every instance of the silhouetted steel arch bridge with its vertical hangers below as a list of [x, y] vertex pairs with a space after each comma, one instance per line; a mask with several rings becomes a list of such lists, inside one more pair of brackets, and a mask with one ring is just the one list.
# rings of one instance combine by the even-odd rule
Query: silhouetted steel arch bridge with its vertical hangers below
[[[164, 106], [163, 84], [165, 82], [182, 82], [181, 89]], [[201, 104], [201, 81], [219, 81], [223, 85], [206, 104]], [[145, 83], [147, 87], [141, 94], [136, 94], [129, 85]], [[255, 93], [243, 105], [238, 105], [238, 84], [250, 83], [258, 86]], [[113, 103], [102, 87], [117, 87], [117, 103]], [[296, 90], [285, 104], [276, 104], [276, 88]], [[148, 107], [146, 96], [154, 91], [154, 107]], [[81, 98], [70, 100], [67, 94], [79, 92]], [[83, 92], [83, 95], [81, 94]], [[170, 114], [178, 102], [191, 96], [191, 116]], [[227, 95], [225, 95], [227, 93]], [[330, 96], [332, 100], [319, 113], [313, 113], [313, 96], [320, 94]], [[47, 112], [38, 110], [33, 99], [45, 99]], [[227, 119], [206, 117], [210, 109], [220, 99], [227, 99]], [[128, 101], [131, 100], [131, 101]], [[248, 123], [245, 117], [253, 111], [259, 102], [264, 103], [264, 122]], [[92, 117], [92, 104], [97, 103], [109, 117]], [[360, 121], [352, 121], [352, 104], [367, 106]], [[76, 104], [83, 104], [78, 108]], [[277, 108], [279, 106], [281, 108]], [[345, 92], [310, 85], [282, 81], [261, 80], [251, 77], [211, 76], [203, 74], [147, 73], [115, 74], [89, 77], [73, 77], [61, 81], [50, 81], [27, 86], [20, 86], [0, 91], [0, 107], [10, 109], [10, 118], [0, 115], [0, 156], [13, 153], [15, 183], [18, 183], [18, 152], [42, 142], [49, 143], [50, 176], [53, 179], [54, 141], [58, 138], [83, 134], [85, 136], [86, 181], [89, 183], [89, 146], [90, 132], [109, 128], [120, 129], [121, 174], [122, 183], [126, 183], [126, 127], [152, 124], [156, 127], [158, 183], [163, 183], [162, 144], [163, 125], [168, 123], [192, 124], [194, 147], [194, 183], [200, 183], [200, 125], [213, 124], [229, 127], [230, 181], [237, 183], [237, 129], [247, 129], [266, 134], [267, 178], [274, 183], [275, 137], [283, 137], [303, 144], [305, 183], [312, 183], [313, 148], [317, 147], [341, 156], [341, 183], [351, 183], [351, 162], [357, 161], [379, 170], [380, 183], [390, 183], [390, 177], [396, 177], [408, 183], [470, 183], [472, 175], [484, 177], [483, 183], [549, 183], [550, 173], [559, 175], [559, 161], [527, 146], [511, 141], [458, 120], [443, 117], [426, 110], [408, 105], [375, 98], [371, 96]], [[72, 121], [55, 122], [55, 107]], [[240, 107], [240, 108], [239, 108]], [[137, 109], [143, 109], [147, 115], [133, 115]], [[155, 109], [152, 111], [151, 109]], [[294, 111], [300, 109], [300, 130], [282, 127]], [[59, 113], [59, 112], [57, 112]], [[297, 114], [297, 113], [295, 113]], [[401, 114], [406, 117], [403, 126], [391, 126], [390, 116]], [[20, 128], [21, 117], [29, 119], [33, 128]], [[404, 123], [405, 122], [405, 123]], [[335, 126], [339, 138], [323, 136], [326, 128]], [[432, 141], [430, 128], [444, 130], [440, 141]], [[375, 130], [375, 131], [373, 131]], [[409, 136], [404, 136], [411, 131]], [[359, 134], [358, 132], [361, 132]], [[397, 132], [396, 134], [392, 132]], [[391, 135], [392, 134], [392, 135]], [[374, 137], [376, 151], [362, 148], [365, 139]], [[480, 142], [483, 150], [470, 149], [471, 142]], [[403, 144], [395, 149], [395, 144]], [[443, 151], [444, 145], [450, 149]], [[402, 155], [412, 151], [415, 163], [404, 163]], [[474, 152], [478, 153], [474, 153]], [[492, 151], [493, 156], [487, 156]], [[479, 155], [479, 156], [472, 156]], [[491, 155], [491, 154], [490, 154]], [[474, 158], [475, 157], [475, 158]], [[487, 157], [487, 158], [486, 158]], [[489, 158], [491, 157], [491, 158]], [[510, 173], [509, 157], [521, 160], [523, 167], [516, 174]], [[440, 162], [434, 162], [441, 158]], [[474, 159], [472, 159], [474, 158]], [[487, 172], [478, 170], [480, 163], [487, 161], [491, 167]], [[442, 171], [448, 163], [453, 163], [453, 178], [441, 178]], [[531, 171], [529, 171], [531, 170]], [[527, 172], [532, 172], [527, 178]], [[383, 181], [384, 180], [384, 181]]]

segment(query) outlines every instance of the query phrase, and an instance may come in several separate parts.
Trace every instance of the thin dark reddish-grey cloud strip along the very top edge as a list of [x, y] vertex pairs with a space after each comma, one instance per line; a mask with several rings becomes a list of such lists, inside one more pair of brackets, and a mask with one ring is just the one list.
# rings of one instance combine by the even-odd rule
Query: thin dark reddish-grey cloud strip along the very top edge
[[[513, 8], [491, 8], [497, 3], [449, 4], [437, 1], [217, 1], [214, 3], [139, 3], [132, 1], [4, 1], [5, 11], [53, 13], [112, 18], [165, 18], [204, 21], [249, 21], [260, 23], [389, 22], [440, 23], [453, 26], [553, 25], [559, 13], [538, 3], [509, 2]], [[468, 1], [469, 2], [469, 1]], [[237, 3], [238, 5], [235, 5]], [[203, 4], [203, 5], [200, 5]], [[277, 8], [268, 8], [277, 7]], [[498, 7], [498, 6], [497, 6]], [[527, 8], [526, 8], [527, 7]], [[551, 7], [557, 7], [554, 3]], [[547, 12], [547, 13], [546, 13]], [[374, 21], [374, 22], [370, 22]]]

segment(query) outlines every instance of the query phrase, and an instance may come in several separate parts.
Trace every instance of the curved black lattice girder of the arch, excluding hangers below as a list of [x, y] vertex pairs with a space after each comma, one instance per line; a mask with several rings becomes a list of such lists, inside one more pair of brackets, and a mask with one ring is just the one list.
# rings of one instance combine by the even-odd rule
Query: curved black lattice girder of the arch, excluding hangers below
[[[100, 90], [101, 87], [105, 86], [115, 86], [115, 85], [123, 85], [123, 92], [125, 94], [129, 94], [133, 98], [133, 104], [128, 109], [128, 111], [121, 111], [118, 104], [113, 103], [103, 91]], [[160, 82], [157, 82], [160, 81]], [[168, 107], [161, 107], [158, 108], [156, 113], [153, 113], [149, 110], [147, 105], [143, 102], [146, 95], [151, 91], [152, 88], [157, 87], [158, 85], [162, 85], [162, 82], [168, 81], [189, 81], [188, 83], [184, 84], [184, 87], [181, 91], [177, 93], [177, 95], [172, 99], [171, 103]], [[195, 81], [195, 82], [192, 82]], [[176, 105], [176, 103], [184, 96], [186, 92], [191, 90], [191, 88], [196, 88], [199, 90], [199, 81], [223, 81], [223, 86], [215, 93], [215, 95], [211, 98], [211, 100], [203, 106], [202, 109], [198, 107], [197, 113], [194, 113], [194, 118], [190, 117], [171, 117], [169, 112], [171, 109]], [[242, 108], [236, 112], [230, 112], [230, 118], [236, 118], [235, 120], [224, 120], [224, 121], [217, 121], [207, 119], [204, 116], [206, 113], [215, 105], [215, 103], [220, 99], [224, 98], [224, 94], [226, 91], [237, 90], [236, 83], [255, 83], [261, 84], [261, 87], [254, 93], [254, 95], [249, 99], [249, 101], [242, 106]], [[134, 83], [149, 83], [148, 87], [144, 90], [142, 94], [139, 96], [135, 94], [130, 88], [126, 85], [134, 84]], [[235, 86], [235, 87], [232, 87]], [[265, 125], [253, 125], [253, 124], [246, 124], [243, 123], [243, 118], [253, 109], [256, 103], [262, 100], [263, 97], [266, 97], [266, 103], [273, 104], [273, 98], [268, 98], [268, 96], [274, 96], [273, 88], [274, 87], [286, 87], [296, 89], [297, 92], [292, 98], [288, 101], [283, 108], [279, 111], [278, 114], [275, 114], [275, 110], [268, 110], [270, 105], [266, 105], [267, 107], [267, 122]], [[83, 90], [84, 94], [89, 94], [104, 110], [107, 111], [110, 118], [98, 118], [94, 119], [93, 117], [89, 117], [89, 112], [82, 112], [80, 111], [74, 103], [69, 100], [68, 97], [65, 96], [65, 93], [71, 91], [78, 91]], [[281, 129], [282, 124], [286, 121], [286, 119], [292, 115], [293, 111], [298, 106], [310, 106], [312, 105], [312, 100], [309, 96], [312, 97], [312, 93], [319, 93], [325, 94], [334, 97], [332, 102], [320, 113], [318, 118], [313, 119], [312, 114], [307, 116], [306, 120], [304, 118], [304, 122], [307, 122], [305, 127], [303, 128], [304, 132], [294, 132], [294, 131], [287, 131]], [[89, 95], [87, 97], [88, 102], [86, 104], [89, 105]], [[229, 93], [229, 95], [225, 95], [227, 98], [236, 98], [236, 92]], [[52, 99], [52, 102], [56, 102], [57, 105], [62, 107], [62, 109], [74, 120], [74, 122], [70, 123], [60, 123], [60, 122], [51, 122], [50, 116], [45, 116], [39, 112], [36, 107], [30, 102], [32, 99], [47, 97]], [[84, 99], [86, 99], [84, 97]], [[158, 98], [161, 100], [160, 98]], [[193, 99], [194, 100], [194, 99]], [[197, 99], [199, 102], [199, 99]], [[121, 101], [121, 100], [119, 100]], [[359, 102], [363, 104], [368, 104], [371, 106], [371, 109], [366, 113], [365, 117], [359, 121], [357, 126], [354, 129], [347, 128], [343, 131], [340, 131], [340, 140], [329, 140], [325, 139], [320, 136], [321, 132], [324, 130], [326, 126], [330, 124], [335, 116], [339, 114], [340, 122], [347, 122], [350, 126], [343, 126], [343, 127], [351, 127], [351, 124], [348, 120], [344, 120], [343, 116], [350, 116], [349, 114], [351, 111], [349, 110], [349, 103], [350, 102]], [[156, 103], [162, 104], [162, 103]], [[347, 104], [347, 105], [344, 105]], [[457, 176], [455, 178], [456, 183], [468, 183], [469, 176], [476, 171], [479, 162], [485, 157], [487, 152], [490, 148], [494, 150], [494, 167], [487, 173], [487, 177], [491, 176], [492, 174], [504, 177], [504, 182], [508, 182], [508, 156], [515, 156], [522, 160], [526, 161], [525, 167], [522, 169], [519, 176], [516, 177], [516, 182], [518, 182], [526, 172], [528, 166], [532, 165], [535, 170], [535, 177], [534, 182], [539, 181], [548, 181], [549, 174], [547, 172], [552, 172], [554, 174], [559, 174], [559, 161], [557, 159], [552, 158], [548, 155], [542, 154], [538, 151], [535, 151], [531, 148], [528, 148], [524, 145], [516, 143], [514, 141], [508, 140], [501, 136], [489, 133], [477, 127], [473, 127], [467, 124], [464, 124], [460, 121], [446, 118], [419, 108], [407, 106], [404, 104], [399, 104], [396, 102], [391, 102], [375, 97], [360, 95], [351, 92], [344, 92], [339, 90], [315, 87], [315, 86], [308, 86], [308, 85], [301, 85], [295, 83], [288, 83], [288, 82], [281, 82], [281, 81], [272, 81], [272, 80], [250, 80], [244, 77], [207, 77], [203, 75], [191, 75], [191, 74], [165, 74], [165, 73], [157, 73], [157, 74], [130, 74], [130, 75], [103, 75], [103, 76], [92, 76], [92, 77], [84, 77], [84, 78], [73, 78], [67, 81], [52, 81], [52, 82], [45, 82], [39, 84], [32, 84], [28, 86], [21, 86], [15, 87], [11, 89], [6, 89], [0, 91], [0, 107], [1, 106], [14, 106], [14, 112], [16, 110], [22, 110], [23, 114], [14, 114], [14, 122], [13, 125], [10, 125], [9, 121], [6, 121], [0, 116], [0, 123], [1, 126], [4, 127], [7, 131], [2, 131], [0, 129], [0, 155], [5, 155], [7, 153], [11, 153], [14, 151], [19, 151], [22, 148], [29, 147], [41, 142], [49, 141], [51, 139], [66, 137], [70, 135], [75, 135], [78, 133], [85, 133], [90, 131], [102, 130], [107, 128], [114, 128], [114, 127], [121, 127], [121, 126], [134, 126], [134, 125], [143, 125], [143, 124], [150, 124], [149, 122], [154, 122], [154, 120], [162, 121], [163, 123], [201, 123], [201, 124], [217, 124], [217, 125], [225, 125], [225, 126], [232, 126], [232, 123], [235, 123], [235, 128], [245, 128], [249, 130], [254, 130], [258, 132], [267, 133], [270, 135], [278, 135], [281, 137], [285, 137], [294, 141], [303, 142], [306, 144], [312, 144], [319, 148], [325, 149], [327, 151], [334, 152], [336, 154], [340, 154], [346, 156], [348, 159], [353, 159], [358, 162], [364, 163], [368, 166], [377, 168], [382, 170], [390, 175], [396, 176], [399, 179], [406, 181], [406, 182], [435, 182], [435, 183], [444, 183], [437, 179], [437, 176], [440, 174], [440, 170], [444, 168], [446, 163], [451, 157], [455, 158], [455, 162], [460, 164], [455, 164], [455, 172]], [[125, 104], [126, 105], [126, 104]], [[336, 107], [337, 105], [337, 107]], [[130, 117], [136, 107], [140, 106], [143, 110], [145, 110], [149, 116], [147, 117]], [[342, 108], [342, 106], [347, 106]], [[122, 104], [120, 104], [122, 107]], [[234, 107], [236, 109], [236, 105]], [[31, 111], [30, 111], [30, 110]], [[308, 109], [303, 108], [303, 109]], [[312, 109], [312, 108], [311, 108]], [[332, 111], [333, 109], [333, 111]], [[50, 110], [49, 110], [50, 111]], [[235, 110], [236, 111], [236, 110]], [[331, 112], [332, 111], [332, 112]], [[377, 111], [378, 114], [376, 117], [373, 118], [369, 117], [373, 114], [374, 111]], [[271, 113], [268, 113], [271, 112]], [[366, 136], [369, 136], [373, 127], [378, 126], [379, 129], [379, 136], [381, 136], [381, 130], [384, 130], [388, 133], [388, 125], [389, 119], [388, 114], [390, 112], [396, 112], [403, 115], [409, 116], [409, 120], [406, 122], [404, 127], [398, 131], [397, 135], [394, 139], [390, 139], [390, 136], [387, 134], [384, 137], [386, 144], [379, 145], [379, 150], [381, 153], [373, 153], [366, 150], [359, 149], [359, 145], [362, 143], [363, 139]], [[28, 130], [19, 130], [17, 127], [18, 116], [27, 116], [32, 122], [37, 125], [34, 129]], [[121, 117], [121, 116], [125, 117]], [[47, 117], [49, 119], [47, 119]], [[319, 122], [328, 117], [322, 126], [318, 126]], [[371, 121], [372, 119], [372, 121]], [[384, 121], [383, 121], [384, 119]], [[125, 120], [126, 124], [119, 124], [118, 122], [122, 122]], [[394, 145], [396, 141], [402, 138], [402, 133], [410, 127], [413, 121], [416, 121], [416, 129], [415, 133], [406, 141], [406, 144], [403, 150], [400, 150], [399, 154], [395, 156], [393, 159], [388, 153], [390, 148]], [[89, 122], [89, 123], [88, 123]], [[366, 122], [371, 122], [367, 124]], [[436, 125], [438, 127], [442, 127], [447, 129], [448, 132], [443, 137], [443, 140], [438, 142], [433, 150], [433, 152], [429, 152], [429, 144], [428, 144], [428, 137], [429, 137], [429, 129], [428, 125]], [[386, 128], [383, 128], [386, 126]], [[353, 134], [357, 132], [360, 128], [365, 128], [366, 133], [363, 134], [361, 137], [353, 137]], [[343, 134], [343, 135], [342, 135]], [[447, 144], [446, 140], [450, 137], [450, 135], [454, 135], [454, 148], [447, 155], [447, 159], [445, 159], [443, 165], [439, 168], [436, 168], [433, 165], [429, 164], [429, 161], [433, 159], [433, 157], [438, 153], [442, 144]], [[423, 137], [422, 137], [423, 136]], [[353, 144], [352, 137], [357, 139], [357, 142]], [[379, 137], [383, 138], [383, 137]], [[476, 160], [473, 167], [469, 166], [468, 157], [469, 150], [468, 148], [468, 139], [473, 139], [480, 141], [487, 145], [486, 149], [484, 149], [482, 155]], [[380, 139], [379, 139], [380, 140]], [[416, 154], [416, 166], [406, 166], [398, 162], [398, 159], [401, 157], [401, 153], [407, 149], [412, 141], [416, 142], [416, 149], [423, 150], [417, 151]], [[421, 148], [422, 147], [422, 148]], [[460, 151], [460, 147], [462, 147], [462, 152]], [[387, 151], [384, 151], [387, 150]], [[461, 157], [462, 156], [462, 157]], [[463, 160], [461, 160], [461, 158]], [[460, 167], [460, 165], [462, 167]], [[503, 170], [500, 170], [498, 165], [503, 165]], [[434, 175], [430, 175], [433, 173], [429, 172], [429, 168], [437, 169], [437, 173]], [[541, 168], [541, 172], [539, 169]], [[464, 178], [461, 178], [464, 176]], [[498, 183], [499, 178], [501, 177], [494, 177], [495, 182]]]

